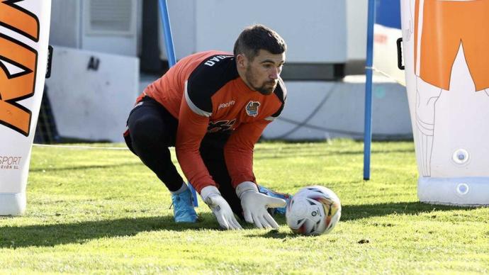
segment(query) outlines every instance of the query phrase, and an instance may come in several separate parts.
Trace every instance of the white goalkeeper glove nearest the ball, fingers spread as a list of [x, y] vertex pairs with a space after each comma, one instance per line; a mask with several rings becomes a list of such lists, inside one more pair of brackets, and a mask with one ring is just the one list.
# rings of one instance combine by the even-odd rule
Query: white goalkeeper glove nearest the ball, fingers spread
[[274, 218], [271, 218], [267, 208], [286, 206], [286, 201], [259, 193], [257, 184], [245, 181], [236, 187], [236, 194], [241, 199], [241, 207], [248, 223], [254, 223], [257, 228], [279, 229]]

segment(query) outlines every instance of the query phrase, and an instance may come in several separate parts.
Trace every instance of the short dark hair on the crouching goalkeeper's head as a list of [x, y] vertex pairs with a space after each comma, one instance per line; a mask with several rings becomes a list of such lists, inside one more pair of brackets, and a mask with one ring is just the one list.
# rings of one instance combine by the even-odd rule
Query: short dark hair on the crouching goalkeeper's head
[[271, 54], [279, 55], [287, 50], [287, 45], [271, 28], [260, 24], [245, 28], [235, 42], [234, 55], [244, 54], [249, 60], [253, 60], [259, 50], [267, 50]]

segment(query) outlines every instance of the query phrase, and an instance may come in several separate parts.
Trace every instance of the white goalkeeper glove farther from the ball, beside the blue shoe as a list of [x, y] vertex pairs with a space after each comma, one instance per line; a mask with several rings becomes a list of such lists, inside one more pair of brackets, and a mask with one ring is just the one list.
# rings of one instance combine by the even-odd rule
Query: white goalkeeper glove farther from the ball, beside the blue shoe
[[237, 230], [242, 229], [240, 223], [237, 222], [235, 214], [232, 213], [229, 203], [220, 196], [219, 190], [215, 186], [206, 186], [201, 190], [202, 200], [207, 203], [221, 228]]

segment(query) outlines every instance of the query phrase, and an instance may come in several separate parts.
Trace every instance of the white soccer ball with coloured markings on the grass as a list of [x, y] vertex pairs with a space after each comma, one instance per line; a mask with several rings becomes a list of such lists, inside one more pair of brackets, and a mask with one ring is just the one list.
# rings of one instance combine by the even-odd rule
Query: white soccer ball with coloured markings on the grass
[[302, 235], [330, 232], [341, 215], [342, 205], [335, 192], [318, 185], [300, 189], [286, 208], [288, 227]]

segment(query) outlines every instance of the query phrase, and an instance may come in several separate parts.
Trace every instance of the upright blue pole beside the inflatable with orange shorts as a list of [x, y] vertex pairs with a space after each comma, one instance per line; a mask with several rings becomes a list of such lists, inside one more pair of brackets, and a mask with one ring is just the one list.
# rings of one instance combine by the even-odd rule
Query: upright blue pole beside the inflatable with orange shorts
[[375, 20], [375, 0], [369, 0], [369, 22], [367, 25], [366, 82], [365, 82], [365, 126], [364, 126], [364, 179], [370, 179], [370, 152], [372, 142], [372, 64], [373, 64], [373, 23]]

